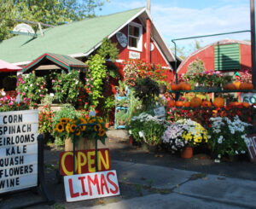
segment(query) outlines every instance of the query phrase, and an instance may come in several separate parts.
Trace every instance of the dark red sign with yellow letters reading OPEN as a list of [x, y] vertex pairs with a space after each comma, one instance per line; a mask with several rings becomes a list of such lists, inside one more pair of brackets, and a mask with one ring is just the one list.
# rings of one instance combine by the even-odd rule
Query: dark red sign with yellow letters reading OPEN
[[[76, 173], [88, 173], [96, 171], [95, 149], [76, 151]], [[97, 152], [98, 171], [109, 171], [110, 155], [108, 148], [99, 148]], [[63, 176], [73, 175], [73, 152], [60, 154], [60, 172]]]

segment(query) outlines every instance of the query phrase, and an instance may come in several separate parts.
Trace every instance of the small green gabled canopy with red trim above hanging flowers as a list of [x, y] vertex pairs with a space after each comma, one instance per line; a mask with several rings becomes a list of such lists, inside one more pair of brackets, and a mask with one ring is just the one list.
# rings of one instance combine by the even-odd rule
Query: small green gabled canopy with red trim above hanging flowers
[[69, 55], [58, 55], [54, 53], [45, 53], [40, 55], [36, 60], [32, 61], [23, 68], [22, 73], [28, 73], [42, 65], [55, 64], [58, 67], [72, 70], [85, 70], [88, 66], [84, 62], [79, 61]]

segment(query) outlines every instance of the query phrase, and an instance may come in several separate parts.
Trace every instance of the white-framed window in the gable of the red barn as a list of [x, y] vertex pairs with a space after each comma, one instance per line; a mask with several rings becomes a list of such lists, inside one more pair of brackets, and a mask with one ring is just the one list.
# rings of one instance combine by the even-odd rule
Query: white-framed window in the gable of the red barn
[[131, 22], [128, 26], [128, 49], [134, 49], [142, 51], [143, 45], [143, 26], [137, 23]]

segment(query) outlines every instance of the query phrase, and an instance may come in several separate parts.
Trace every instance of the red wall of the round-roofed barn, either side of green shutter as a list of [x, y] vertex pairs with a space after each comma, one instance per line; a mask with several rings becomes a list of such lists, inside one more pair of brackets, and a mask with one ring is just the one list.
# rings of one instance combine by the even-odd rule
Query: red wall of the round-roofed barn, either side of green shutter
[[[200, 49], [199, 49], [200, 50]], [[240, 44], [240, 53], [241, 53], [241, 71], [247, 68], [252, 67], [252, 59], [251, 59], [251, 45]], [[199, 53], [195, 55], [191, 55], [189, 59], [185, 59], [181, 63], [181, 68], [178, 69], [178, 74], [183, 74], [187, 72], [189, 64], [196, 59], [200, 59], [204, 62], [206, 70], [214, 69], [214, 46], [211, 45], [207, 49], [201, 50]]]

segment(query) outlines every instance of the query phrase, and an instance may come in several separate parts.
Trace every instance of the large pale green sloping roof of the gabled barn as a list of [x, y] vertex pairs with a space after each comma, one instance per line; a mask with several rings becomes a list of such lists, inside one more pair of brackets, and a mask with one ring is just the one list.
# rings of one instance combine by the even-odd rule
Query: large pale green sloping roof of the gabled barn
[[16, 63], [32, 61], [47, 51], [61, 55], [87, 53], [142, 10], [132, 9], [47, 28], [43, 37], [38, 33], [37, 38], [22, 35], [9, 38], [0, 43], [0, 59]]

